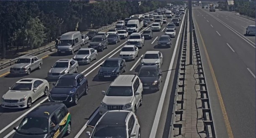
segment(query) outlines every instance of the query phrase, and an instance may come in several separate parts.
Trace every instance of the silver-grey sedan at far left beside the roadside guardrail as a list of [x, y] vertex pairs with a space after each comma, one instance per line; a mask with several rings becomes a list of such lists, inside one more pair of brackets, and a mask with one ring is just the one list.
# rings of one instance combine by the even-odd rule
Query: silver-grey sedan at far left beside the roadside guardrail
[[41, 69], [43, 60], [37, 56], [28, 55], [18, 58], [16, 64], [10, 68], [10, 74], [27, 74], [36, 69]]

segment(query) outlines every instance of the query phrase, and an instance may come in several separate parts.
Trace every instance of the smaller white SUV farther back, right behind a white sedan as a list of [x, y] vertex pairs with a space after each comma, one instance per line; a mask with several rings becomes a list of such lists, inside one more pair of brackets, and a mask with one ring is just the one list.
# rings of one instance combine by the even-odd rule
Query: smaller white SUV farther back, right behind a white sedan
[[145, 38], [142, 33], [132, 33], [130, 38], [127, 40], [126, 45], [135, 45], [138, 48], [144, 46]]

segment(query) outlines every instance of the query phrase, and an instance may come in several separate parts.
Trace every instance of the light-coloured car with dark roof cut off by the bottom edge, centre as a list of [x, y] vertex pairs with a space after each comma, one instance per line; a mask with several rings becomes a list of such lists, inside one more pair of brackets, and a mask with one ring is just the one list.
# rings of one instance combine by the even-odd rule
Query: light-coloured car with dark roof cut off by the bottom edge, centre
[[[110, 106], [111, 107], [111, 106]], [[130, 123], [129, 123], [130, 122]], [[104, 128], [104, 129], [100, 129]], [[106, 133], [107, 132], [107, 133]], [[90, 138], [141, 138], [141, 129], [136, 115], [131, 111], [108, 111], [96, 123], [92, 133], [86, 132]]]

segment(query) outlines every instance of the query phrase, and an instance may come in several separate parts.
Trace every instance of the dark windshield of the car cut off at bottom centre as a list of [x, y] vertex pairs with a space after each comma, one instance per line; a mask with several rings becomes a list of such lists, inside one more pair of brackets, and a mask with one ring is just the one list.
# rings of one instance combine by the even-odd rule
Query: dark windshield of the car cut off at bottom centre
[[125, 125], [97, 125], [92, 138], [126, 138]]

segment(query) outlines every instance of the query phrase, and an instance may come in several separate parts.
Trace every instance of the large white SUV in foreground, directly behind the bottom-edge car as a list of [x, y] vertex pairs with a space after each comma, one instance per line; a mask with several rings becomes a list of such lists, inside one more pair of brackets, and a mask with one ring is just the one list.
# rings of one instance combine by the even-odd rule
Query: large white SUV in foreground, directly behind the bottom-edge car
[[143, 101], [143, 84], [137, 75], [119, 75], [110, 84], [99, 106], [99, 114], [109, 110], [130, 110], [136, 114]]

